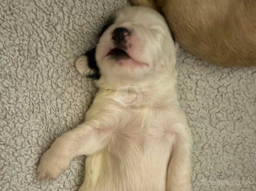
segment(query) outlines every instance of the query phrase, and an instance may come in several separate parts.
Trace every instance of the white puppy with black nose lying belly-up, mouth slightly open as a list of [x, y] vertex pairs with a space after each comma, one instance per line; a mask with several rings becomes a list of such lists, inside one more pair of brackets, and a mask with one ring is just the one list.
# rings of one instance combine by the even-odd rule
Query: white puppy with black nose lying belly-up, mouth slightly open
[[[145, 7], [116, 13], [99, 39], [99, 91], [84, 123], [57, 138], [38, 176], [52, 179], [86, 155], [79, 191], [192, 191], [192, 138], [176, 90], [174, 42]], [[86, 57], [77, 68], [86, 73]]]

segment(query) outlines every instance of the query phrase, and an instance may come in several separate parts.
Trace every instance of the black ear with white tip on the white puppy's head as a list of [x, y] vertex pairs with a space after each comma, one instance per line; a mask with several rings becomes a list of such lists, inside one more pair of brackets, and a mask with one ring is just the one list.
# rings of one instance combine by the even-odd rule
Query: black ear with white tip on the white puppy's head
[[[108, 27], [112, 23], [108, 22], [106, 25], [102, 27], [102, 30], [99, 34], [99, 37], [103, 35], [105, 30], [108, 29]], [[92, 78], [94, 80], [98, 80], [101, 76], [99, 67], [97, 65], [96, 59], [95, 59], [95, 53], [96, 53], [96, 47], [86, 52], [84, 55], [80, 56], [75, 66], [80, 74], [83, 76], [86, 76], [88, 78]]]

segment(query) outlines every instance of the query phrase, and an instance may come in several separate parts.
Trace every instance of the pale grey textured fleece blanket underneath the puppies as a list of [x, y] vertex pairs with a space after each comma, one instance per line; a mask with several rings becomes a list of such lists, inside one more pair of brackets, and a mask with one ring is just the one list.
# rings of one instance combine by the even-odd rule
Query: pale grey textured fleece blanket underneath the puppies
[[[96, 89], [75, 69], [127, 0], [0, 1], [0, 190], [76, 191], [84, 156], [56, 180], [35, 170], [81, 123]], [[195, 191], [256, 190], [256, 68], [210, 65], [179, 50], [178, 90], [194, 139]]]

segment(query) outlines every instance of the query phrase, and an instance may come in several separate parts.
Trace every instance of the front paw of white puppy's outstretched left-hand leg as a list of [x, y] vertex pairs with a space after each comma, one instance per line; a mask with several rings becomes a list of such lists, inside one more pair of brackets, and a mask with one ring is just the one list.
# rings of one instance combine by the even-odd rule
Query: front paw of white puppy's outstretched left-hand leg
[[49, 149], [40, 159], [37, 176], [40, 180], [51, 180], [57, 178], [62, 171], [68, 168], [69, 162], [68, 158], [58, 156]]

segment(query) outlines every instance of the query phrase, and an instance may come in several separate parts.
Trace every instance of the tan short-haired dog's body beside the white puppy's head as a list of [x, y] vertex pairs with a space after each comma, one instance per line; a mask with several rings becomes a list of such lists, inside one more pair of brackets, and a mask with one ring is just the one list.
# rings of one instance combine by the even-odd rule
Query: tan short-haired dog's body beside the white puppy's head
[[256, 0], [131, 0], [165, 15], [176, 41], [223, 66], [256, 65]]

